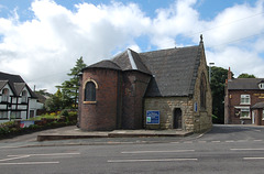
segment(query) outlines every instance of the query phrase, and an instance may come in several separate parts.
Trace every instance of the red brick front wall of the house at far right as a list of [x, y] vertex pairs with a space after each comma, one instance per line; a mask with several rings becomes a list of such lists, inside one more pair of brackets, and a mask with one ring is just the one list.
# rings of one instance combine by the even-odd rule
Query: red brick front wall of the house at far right
[[[241, 95], [250, 95], [251, 96], [251, 104], [250, 105], [241, 105]], [[229, 111], [229, 123], [232, 124], [240, 124], [241, 121], [244, 121], [245, 124], [251, 124], [252, 119], [243, 119], [241, 120], [240, 117], [235, 117], [234, 115], [234, 106], [241, 107], [251, 107], [256, 102], [264, 101], [264, 91], [263, 90], [229, 90], [229, 95], [227, 96], [229, 100], [228, 111]]]

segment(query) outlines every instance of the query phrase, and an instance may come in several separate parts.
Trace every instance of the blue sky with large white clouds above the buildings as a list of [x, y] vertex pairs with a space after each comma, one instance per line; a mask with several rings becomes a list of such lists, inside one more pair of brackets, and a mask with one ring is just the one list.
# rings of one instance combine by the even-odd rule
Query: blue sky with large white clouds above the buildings
[[0, 0], [0, 72], [55, 93], [77, 58], [198, 45], [207, 64], [264, 78], [264, 0]]

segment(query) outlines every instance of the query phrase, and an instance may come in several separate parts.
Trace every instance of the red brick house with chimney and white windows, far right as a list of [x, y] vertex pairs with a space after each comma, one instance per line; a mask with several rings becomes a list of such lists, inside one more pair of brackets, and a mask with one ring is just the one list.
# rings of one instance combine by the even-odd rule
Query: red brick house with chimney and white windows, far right
[[224, 123], [264, 126], [264, 78], [231, 78], [226, 83]]

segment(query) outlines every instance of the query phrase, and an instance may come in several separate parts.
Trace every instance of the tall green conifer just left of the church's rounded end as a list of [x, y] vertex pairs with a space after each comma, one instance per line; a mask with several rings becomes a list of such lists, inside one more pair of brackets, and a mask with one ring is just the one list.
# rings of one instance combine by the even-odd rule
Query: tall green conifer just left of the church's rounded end
[[62, 86], [57, 88], [62, 89], [62, 98], [66, 108], [77, 108], [78, 89], [79, 89], [79, 73], [87, 65], [84, 63], [82, 56], [76, 61], [75, 67], [70, 69], [67, 75], [70, 76], [69, 80], [65, 80]]

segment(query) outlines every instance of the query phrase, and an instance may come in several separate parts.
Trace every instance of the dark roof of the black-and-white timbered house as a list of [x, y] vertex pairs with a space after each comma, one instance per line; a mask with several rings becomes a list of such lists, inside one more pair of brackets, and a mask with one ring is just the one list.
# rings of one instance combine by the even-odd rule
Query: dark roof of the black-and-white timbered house
[[[14, 96], [19, 96], [26, 86], [31, 97], [36, 98], [36, 95], [31, 90], [31, 88], [25, 84], [25, 81], [19, 75], [12, 75], [0, 72], [0, 89], [8, 83], [10, 88], [12, 89]], [[3, 85], [4, 84], [4, 85]]]

